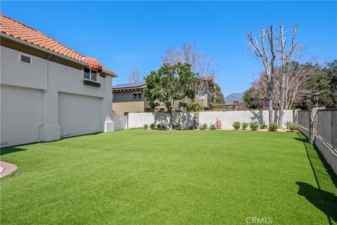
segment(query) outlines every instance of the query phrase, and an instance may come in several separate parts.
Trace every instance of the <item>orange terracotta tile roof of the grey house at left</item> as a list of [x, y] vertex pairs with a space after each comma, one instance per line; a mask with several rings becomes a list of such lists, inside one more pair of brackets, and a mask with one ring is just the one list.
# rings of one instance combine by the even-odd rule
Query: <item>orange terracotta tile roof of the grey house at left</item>
[[[0, 13], [0, 30], [4, 34], [8, 34], [17, 39], [21, 39], [22, 41], [27, 41], [30, 44], [34, 44], [36, 46], [40, 46], [44, 49], [48, 49], [50, 51], [54, 51], [55, 53], [60, 53], [63, 56], [67, 56], [68, 58], [72, 58], [81, 63], [86, 63], [84, 58], [86, 56], [77, 53], [64, 44], [61, 44], [58, 41], [55, 41], [51, 37], [48, 37], [46, 34], [39, 32], [38, 30], [33, 29], [32, 27], [28, 27], [23, 23], [20, 23], [12, 18], [9, 18], [6, 15]], [[103, 67], [103, 71], [110, 72], [113, 75], [116, 75], [115, 72]]]

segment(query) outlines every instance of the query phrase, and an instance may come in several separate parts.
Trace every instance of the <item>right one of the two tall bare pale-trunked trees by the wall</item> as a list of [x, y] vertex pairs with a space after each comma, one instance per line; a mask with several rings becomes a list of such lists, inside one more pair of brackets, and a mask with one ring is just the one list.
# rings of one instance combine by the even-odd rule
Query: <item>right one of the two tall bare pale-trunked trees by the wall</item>
[[297, 44], [295, 43], [296, 39], [296, 31], [297, 25], [293, 27], [293, 37], [291, 39], [291, 49], [286, 52], [286, 37], [284, 34], [284, 25], [280, 26], [280, 34], [281, 34], [281, 62], [282, 62], [282, 82], [280, 86], [280, 94], [279, 94], [279, 127], [282, 127], [283, 123], [283, 115], [284, 115], [284, 106], [286, 101], [286, 92], [289, 89], [289, 84], [286, 82], [290, 71], [290, 60], [291, 56], [293, 56], [294, 51], [296, 50]]

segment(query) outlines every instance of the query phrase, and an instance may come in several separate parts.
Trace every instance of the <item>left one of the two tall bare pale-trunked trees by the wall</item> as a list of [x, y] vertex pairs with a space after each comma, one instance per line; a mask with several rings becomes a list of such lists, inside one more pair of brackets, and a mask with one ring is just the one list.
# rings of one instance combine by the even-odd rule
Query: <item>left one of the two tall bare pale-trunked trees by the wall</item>
[[[265, 37], [267, 36], [268, 44], [265, 44]], [[274, 98], [274, 79], [275, 79], [275, 45], [277, 44], [277, 37], [275, 35], [274, 27], [260, 30], [260, 43], [253, 35], [253, 32], [248, 34], [249, 43], [253, 46], [253, 53], [262, 61], [265, 68], [265, 75], [267, 76], [267, 96], [269, 102], [269, 123], [273, 122], [273, 98]]]

